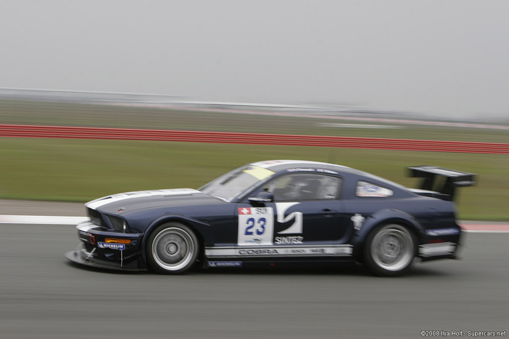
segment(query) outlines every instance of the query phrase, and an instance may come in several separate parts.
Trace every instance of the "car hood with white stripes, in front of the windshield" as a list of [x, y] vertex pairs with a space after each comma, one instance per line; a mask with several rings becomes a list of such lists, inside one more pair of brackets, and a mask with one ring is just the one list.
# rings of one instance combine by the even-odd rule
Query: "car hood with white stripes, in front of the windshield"
[[119, 214], [140, 209], [203, 206], [220, 203], [217, 198], [191, 188], [160, 189], [108, 195], [85, 204], [102, 213]]

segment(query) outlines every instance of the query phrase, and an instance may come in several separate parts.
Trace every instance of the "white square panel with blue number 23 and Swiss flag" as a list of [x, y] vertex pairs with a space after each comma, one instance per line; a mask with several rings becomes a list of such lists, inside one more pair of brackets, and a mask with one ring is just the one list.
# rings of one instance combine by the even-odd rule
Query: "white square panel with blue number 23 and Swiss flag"
[[274, 212], [272, 207], [240, 207], [239, 245], [272, 245]]

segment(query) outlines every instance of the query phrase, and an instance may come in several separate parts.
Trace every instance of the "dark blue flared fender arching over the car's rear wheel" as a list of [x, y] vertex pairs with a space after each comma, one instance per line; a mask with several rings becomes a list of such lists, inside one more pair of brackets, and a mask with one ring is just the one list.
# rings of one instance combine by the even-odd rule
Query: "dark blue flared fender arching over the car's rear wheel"
[[352, 245], [354, 246], [353, 256], [355, 259], [359, 260], [362, 258], [362, 249], [367, 235], [378, 225], [388, 223], [397, 223], [407, 226], [415, 233], [419, 244], [420, 239], [425, 235], [425, 230], [420, 222], [407, 212], [393, 208], [376, 211], [364, 220], [360, 230], [357, 230], [353, 235]]

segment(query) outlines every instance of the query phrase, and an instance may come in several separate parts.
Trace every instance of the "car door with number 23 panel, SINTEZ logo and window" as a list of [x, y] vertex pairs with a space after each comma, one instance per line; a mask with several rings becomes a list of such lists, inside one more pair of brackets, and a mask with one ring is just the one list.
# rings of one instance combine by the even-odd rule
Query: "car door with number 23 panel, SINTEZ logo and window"
[[258, 253], [268, 256], [341, 255], [349, 225], [337, 199], [341, 180], [310, 173], [274, 178], [260, 189], [272, 192], [273, 202], [237, 204], [237, 246], [263, 246]]

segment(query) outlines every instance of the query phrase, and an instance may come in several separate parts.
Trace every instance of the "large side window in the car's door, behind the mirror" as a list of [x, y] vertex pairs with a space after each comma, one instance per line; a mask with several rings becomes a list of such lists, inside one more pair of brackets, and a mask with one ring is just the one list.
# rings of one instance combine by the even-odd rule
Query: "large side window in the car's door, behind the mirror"
[[272, 192], [274, 201], [337, 199], [341, 179], [320, 174], [288, 174], [269, 181], [262, 190]]

